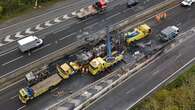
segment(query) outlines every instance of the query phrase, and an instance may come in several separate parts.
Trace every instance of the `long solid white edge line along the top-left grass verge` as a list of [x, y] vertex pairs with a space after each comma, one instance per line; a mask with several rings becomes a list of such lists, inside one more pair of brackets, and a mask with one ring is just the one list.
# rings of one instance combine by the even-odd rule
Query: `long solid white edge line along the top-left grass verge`
[[47, 12], [47, 13], [41, 14], [41, 15], [39, 15], [39, 16], [30, 18], [30, 19], [27, 19], [27, 20], [25, 20], [25, 21], [23, 21], [23, 22], [19, 22], [19, 23], [13, 24], [13, 25], [7, 26], [7, 27], [5, 27], [5, 28], [1, 28], [0, 31], [1, 31], [1, 30], [4, 30], [4, 29], [8, 29], [8, 28], [13, 27], [13, 26], [16, 26], [16, 25], [21, 24], [21, 23], [25, 23], [25, 22], [30, 21], [30, 20], [33, 20], [33, 19], [37, 19], [38, 17], [41, 17], [41, 16], [44, 16], [44, 15], [53, 13], [53, 12], [55, 12], [55, 11], [58, 11], [58, 10], [61, 10], [61, 9], [65, 9], [65, 8], [68, 8], [68, 7], [72, 7], [73, 5], [79, 4], [79, 3], [83, 2], [83, 1], [86, 1], [86, 0], [79, 0], [78, 2], [72, 3], [72, 4], [67, 5], [67, 6], [63, 6], [63, 7], [61, 7], [61, 8], [57, 8], [57, 9], [51, 10], [51, 11], [49, 11], [49, 12]]

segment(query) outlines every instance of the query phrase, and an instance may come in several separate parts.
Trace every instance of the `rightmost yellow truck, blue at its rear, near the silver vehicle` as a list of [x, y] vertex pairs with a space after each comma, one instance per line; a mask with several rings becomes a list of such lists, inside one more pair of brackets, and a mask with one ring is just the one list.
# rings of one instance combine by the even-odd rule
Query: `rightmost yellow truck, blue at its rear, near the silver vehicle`
[[133, 32], [125, 33], [127, 44], [145, 38], [151, 33], [151, 28], [147, 24], [143, 24], [134, 29]]

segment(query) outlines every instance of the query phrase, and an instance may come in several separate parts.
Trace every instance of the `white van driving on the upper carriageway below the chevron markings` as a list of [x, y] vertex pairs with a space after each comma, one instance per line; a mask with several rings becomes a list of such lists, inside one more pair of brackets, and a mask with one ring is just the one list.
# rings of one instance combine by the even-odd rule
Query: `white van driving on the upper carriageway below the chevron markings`
[[36, 36], [29, 36], [18, 41], [18, 47], [21, 52], [28, 51], [43, 44], [43, 40]]

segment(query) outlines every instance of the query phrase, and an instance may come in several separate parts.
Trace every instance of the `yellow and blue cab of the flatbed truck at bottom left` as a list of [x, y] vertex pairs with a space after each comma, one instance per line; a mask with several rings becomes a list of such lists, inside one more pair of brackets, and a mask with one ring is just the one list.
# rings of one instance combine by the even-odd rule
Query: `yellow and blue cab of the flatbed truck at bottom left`
[[19, 91], [19, 99], [23, 104], [26, 104], [28, 100], [33, 97], [33, 90], [31, 88], [22, 88]]

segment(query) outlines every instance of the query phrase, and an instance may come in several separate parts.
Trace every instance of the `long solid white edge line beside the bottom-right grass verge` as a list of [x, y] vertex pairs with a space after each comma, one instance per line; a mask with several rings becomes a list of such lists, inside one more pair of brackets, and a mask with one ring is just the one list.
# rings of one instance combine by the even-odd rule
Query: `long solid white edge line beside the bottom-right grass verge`
[[159, 88], [163, 83], [165, 83], [166, 81], [168, 81], [170, 78], [172, 78], [175, 74], [177, 74], [178, 72], [180, 72], [182, 69], [186, 68], [189, 64], [191, 64], [193, 61], [195, 61], [195, 57], [192, 58], [190, 61], [188, 61], [185, 65], [183, 65], [181, 68], [179, 68], [177, 71], [175, 71], [173, 74], [171, 74], [169, 77], [167, 77], [165, 80], [163, 80], [162, 82], [160, 82], [157, 86], [155, 86], [153, 89], [151, 89], [149, 92], [147, 92], [145, 95], [143, 95], [142, 97], [140, 97], [136, 102], [134, 102], [132, 105], [130, 105], [128, 107], [127, 110], [130, 110], [130, 108], [132, 108], [135, 104], [137, 104], [139, 101], [141, 101], [144, 97], [148, 96], [150, 93], [152, 93], [154, 90], [156, 90], [157, 88]]

